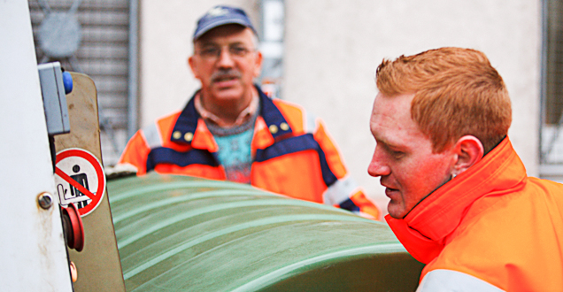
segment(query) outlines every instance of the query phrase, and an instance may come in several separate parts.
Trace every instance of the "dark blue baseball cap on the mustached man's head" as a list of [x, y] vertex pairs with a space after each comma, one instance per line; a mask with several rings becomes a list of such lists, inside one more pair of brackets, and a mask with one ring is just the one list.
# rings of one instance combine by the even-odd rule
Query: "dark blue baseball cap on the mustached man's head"
[[238, 24], [243, 27], [250, 27], [255, 35], [256, 29], [252, 26], [251, 19], [248, 18], [246, 13], [240, 9], [229, 6], [215, 6], [197, 20], [196, 31], [194, 32], [194, 41], [206, 32], [215, 27], [220, 27], [228, 24]]

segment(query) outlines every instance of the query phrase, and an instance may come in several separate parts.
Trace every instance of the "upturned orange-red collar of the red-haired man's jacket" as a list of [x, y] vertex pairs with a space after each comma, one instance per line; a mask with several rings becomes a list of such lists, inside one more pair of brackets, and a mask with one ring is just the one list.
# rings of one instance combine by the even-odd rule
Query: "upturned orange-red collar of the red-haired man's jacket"
[[428, 264], [476, 200], [514, 188], [527, 178], [526, 169], [508, 137], [477, 164], [427, 196], [405, 219], [385, 217], [405, 249]]

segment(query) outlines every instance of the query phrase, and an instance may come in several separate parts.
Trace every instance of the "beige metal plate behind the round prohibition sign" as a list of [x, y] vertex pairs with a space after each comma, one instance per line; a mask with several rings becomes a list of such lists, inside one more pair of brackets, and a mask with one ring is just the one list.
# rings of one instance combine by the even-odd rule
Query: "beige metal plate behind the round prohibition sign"
[[[66, 96], [71, 132], [55, 137], [57, 152], [80, 148], [102, 158], [98, 127], [96, 86], [89, 76], [71, 73], [73, 92]], [[82, 217], [84, 224], [84, 249], [69, 250], [69, 257], [78, 269], [74, 283], [77, 292], [125, 291], [120, 256], [113, 232], [112, 212], [107, 196], [100, 205]]]

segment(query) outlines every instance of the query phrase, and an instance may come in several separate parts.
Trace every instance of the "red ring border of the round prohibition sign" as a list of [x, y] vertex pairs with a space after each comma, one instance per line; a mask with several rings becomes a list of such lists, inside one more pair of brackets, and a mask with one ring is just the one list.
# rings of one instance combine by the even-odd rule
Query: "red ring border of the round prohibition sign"
[[84, 208], [78, 209], [81, 216], [86, 216], [91, 211], [94, 211], [94, 209], [96, 209], [97, 205], [100, 204], [100, 202], [102, 201], [102, 197], [104, 197], [104, 191], [105, 191], [104, 169], [102, 169], [102, 164], [99, 162], [99, 160], [97, 160], [97, 158], [92, 153], [90, 153], [87, 150], [83, 150], [79, 148], [70, 148], [58, 152], [57, 157], [55, 158], [55, 165], [57, 165], [59, 161], [65, 158], [72, 158], [72, 157], [86, 159], [86, 161], [88, 161], [89, 164], [92, 165], [94, 167], [94, 170], [96, 171], [96, 177], [97, 177], [97, 189], [95, 195], [96, 197], [91, 198], [92, 202], [90, 202], [90, 204], [86, 205]]

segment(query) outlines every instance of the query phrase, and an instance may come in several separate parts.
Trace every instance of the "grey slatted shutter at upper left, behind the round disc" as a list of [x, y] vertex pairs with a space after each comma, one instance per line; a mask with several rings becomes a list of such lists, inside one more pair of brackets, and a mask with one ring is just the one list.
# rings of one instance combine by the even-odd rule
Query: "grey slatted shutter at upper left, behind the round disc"
[[[59, 61], [66, 70], [85, 73], [96, 83], [104, 165], [114, 165], [128, 138], [129, 2], [29, 0], [29, 8], [37, 62]], [[70, 57], [50, 57], [40, 42], [42, 22], [57, 12], [75, 16], [81, 26], [80, 45]]]

